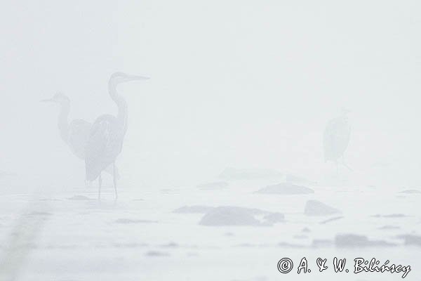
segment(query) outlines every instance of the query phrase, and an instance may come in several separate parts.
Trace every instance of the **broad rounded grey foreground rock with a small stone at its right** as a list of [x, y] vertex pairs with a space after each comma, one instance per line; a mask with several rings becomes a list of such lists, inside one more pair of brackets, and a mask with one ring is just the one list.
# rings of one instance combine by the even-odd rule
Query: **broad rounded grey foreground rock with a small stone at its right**
[[253, 216], [253, 209], [241, 207], [217, 207], [199, 222], [202, 226], [261, 226]]

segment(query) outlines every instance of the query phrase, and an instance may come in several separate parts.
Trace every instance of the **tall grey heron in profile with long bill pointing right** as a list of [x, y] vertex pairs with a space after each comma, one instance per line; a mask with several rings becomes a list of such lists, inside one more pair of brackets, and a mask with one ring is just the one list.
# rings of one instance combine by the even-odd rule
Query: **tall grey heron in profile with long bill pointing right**
[[116, 88], [123, 82], [144, 79], [149, 79], [149, 77], [129, 75], [123, 72], [115, 72], [109, 78], [109, 96], [116, 103], [118, 113], [116, 117], [102, 115], [95, 120], [85, 151], [86, 181], [95, 181], [98, 178], [98, 200], [101, 199], [101, 173], [111, 164], [114, 167], [113, 184], [115, 199], [118, 197], [115, 161], [123, 148], [123, 139], [127, 131], [127, 103], [119, 95]]

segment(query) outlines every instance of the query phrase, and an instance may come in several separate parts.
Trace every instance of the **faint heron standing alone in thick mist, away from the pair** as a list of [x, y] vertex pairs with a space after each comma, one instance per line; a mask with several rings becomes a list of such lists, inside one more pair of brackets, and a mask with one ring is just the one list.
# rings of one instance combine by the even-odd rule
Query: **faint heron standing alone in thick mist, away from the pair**
[[351, 126], [348, 122], [347, 113], [349, 110], [342, 109], [339, 117], [331, 119], [323, 134], [323, 148], [325, 162], [331, 160], [336, 164], [338, 171], [338, 160], [342, 159], [342, 164], [349, 170], [349, 166], [345, 164], [344, 152], [347, 150], [349, 144], [349, 137], [351, 136]]

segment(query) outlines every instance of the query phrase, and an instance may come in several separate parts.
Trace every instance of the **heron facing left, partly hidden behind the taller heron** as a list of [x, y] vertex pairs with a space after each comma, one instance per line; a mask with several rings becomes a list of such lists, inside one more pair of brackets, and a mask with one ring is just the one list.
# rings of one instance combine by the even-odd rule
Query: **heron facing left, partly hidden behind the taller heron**
[[[53, 98], [41, 101], [60, 105], [60, 113], [58, 115], [58, 131], [60, 132], [60, 137], [76, 157], [85, 160], [86, 143], [88, 143], [92, 124], [83, 119], [74, 119], [69, 123], [70, 99], [63, 93], [56, 93]], [[109, 166], [105, 171], [113, 174], [113, 167]], [[116, 176], [119, 178], [118, 171], [116, 171]]]

